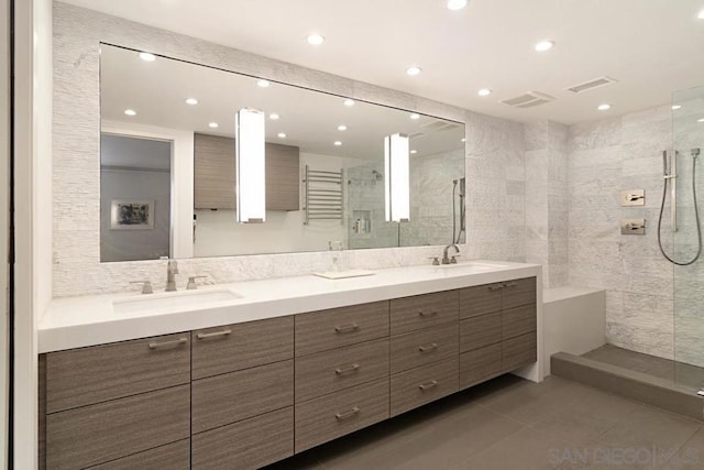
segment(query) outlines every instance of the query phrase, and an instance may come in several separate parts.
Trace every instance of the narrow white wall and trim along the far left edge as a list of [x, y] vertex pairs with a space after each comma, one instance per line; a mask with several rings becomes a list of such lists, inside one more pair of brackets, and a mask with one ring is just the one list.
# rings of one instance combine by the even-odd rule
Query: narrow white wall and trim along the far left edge
[[36, 467], [36, 325], [52, 298], [52, 2], [15, 3], [14, 468]]

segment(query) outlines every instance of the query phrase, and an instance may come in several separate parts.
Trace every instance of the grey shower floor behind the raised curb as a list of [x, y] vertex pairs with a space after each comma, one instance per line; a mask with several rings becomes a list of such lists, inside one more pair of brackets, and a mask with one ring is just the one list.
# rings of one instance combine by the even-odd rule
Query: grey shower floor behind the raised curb
[[704, 386], [703, 368], [629, 351], [612, 345], [604, 345], [582, 357], [666, 379], [690, 390], [698, 391]]

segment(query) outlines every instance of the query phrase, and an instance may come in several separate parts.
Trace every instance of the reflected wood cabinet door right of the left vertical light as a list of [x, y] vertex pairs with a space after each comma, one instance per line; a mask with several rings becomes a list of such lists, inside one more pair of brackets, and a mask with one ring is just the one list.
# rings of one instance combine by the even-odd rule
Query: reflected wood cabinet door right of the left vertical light
[[266, 144], [266, 208], [298, 210], [300, 195], [298, 147]]

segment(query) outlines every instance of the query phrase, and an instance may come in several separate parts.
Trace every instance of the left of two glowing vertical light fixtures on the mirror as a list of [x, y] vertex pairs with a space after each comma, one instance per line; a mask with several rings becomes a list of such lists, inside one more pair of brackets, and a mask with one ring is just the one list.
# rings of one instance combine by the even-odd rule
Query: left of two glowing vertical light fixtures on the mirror
[[237, 217], [240, 223], [266, 218], [264, 113], [243, 108], [235, 114]]

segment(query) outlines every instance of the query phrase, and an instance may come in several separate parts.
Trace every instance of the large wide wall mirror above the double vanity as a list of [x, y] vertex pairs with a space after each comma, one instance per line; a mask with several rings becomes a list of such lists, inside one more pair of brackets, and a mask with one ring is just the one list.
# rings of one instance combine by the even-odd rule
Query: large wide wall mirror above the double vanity
[[[107, 44], [100, 106], [101, 261], [464, 242], [464, 123]], [[266, 117], [264, 223], [235, 221], [242, 108]], [[385, 220], [396, 133], [409, 138], [400, 223]]]

